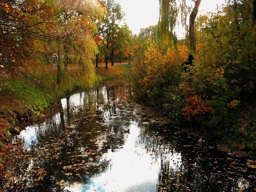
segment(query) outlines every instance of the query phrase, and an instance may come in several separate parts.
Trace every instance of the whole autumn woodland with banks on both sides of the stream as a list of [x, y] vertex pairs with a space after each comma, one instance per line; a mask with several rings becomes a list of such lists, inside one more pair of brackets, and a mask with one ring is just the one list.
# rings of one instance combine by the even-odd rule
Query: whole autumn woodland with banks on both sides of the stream
[[[255, 156], [256, 1], [227, 0], [198, 16], [201, 1], [159, 0], [158, 25], [133, 35], [114, 0], [1, 0], [1, 157], [17, 122], [120, 75], [124, 66], [97, 71], [99, 62], [106, 74], [109, 62], [122, 61], [137, 95], [178, 126]], [[176, 37], [177, 23], [185, 39]]]

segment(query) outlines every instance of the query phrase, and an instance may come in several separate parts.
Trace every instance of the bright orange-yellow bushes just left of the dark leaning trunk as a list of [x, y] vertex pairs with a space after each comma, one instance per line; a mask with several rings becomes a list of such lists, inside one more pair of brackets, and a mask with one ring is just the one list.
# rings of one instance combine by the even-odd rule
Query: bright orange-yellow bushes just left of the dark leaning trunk
[[173, 46], [164, 52], [153, 39], [148, 38], [147, 41], [135, 47], [133, 61], [133, 72], [137, 74], [135, 78], [140, 78], [140, 85], [146, 90], [170, 83], [170, 75], [173, 78], [178, 75], [188, 54], [185, 45]]

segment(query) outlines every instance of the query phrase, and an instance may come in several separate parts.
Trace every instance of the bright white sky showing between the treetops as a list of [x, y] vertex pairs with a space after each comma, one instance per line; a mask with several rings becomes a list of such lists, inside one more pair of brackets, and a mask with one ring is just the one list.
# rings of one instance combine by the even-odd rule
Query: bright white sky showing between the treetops
[[[126, 23], [133, 34], [139, 34], [141, 28], [156, 25], [159, 19], [158, 0], [116, 0], [125, 12]], [[192, 0], [187, 0], [187, 4], [192, 4]], [[215, 11], [217, 4], [221, 5], [225, 0], [202, 0], [199, 7], [199, 14]], [[179, 38], [184, 34], [182, 29], [176, 31]]]

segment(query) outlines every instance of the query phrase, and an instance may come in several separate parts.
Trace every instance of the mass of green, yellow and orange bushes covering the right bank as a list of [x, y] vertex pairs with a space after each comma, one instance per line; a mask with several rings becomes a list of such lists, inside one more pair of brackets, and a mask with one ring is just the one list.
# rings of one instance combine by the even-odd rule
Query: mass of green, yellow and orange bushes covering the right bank
[[184, 41], [166, 47], [155, 36], [137, 40], [131, 79], [147, 102], [181, 125], [218, 136], [233, 132], [239, 108], [256, 93], [253, 6], [229, 1], [217, 13], [199, 16], [191, 65], [184, 62], [191, 51]]

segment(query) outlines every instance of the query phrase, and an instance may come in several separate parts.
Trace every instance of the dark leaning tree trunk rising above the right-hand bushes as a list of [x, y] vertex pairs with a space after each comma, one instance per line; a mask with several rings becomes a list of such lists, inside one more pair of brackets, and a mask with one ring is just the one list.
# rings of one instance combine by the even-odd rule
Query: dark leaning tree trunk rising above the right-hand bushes
[[189, 56], [188, 64], [192, 65], [194, 60], [193, 53], [196, 50], [196, 35], [195, 35], [195, 19], [198, 13], [198, 9], [202, 0], [195, 0], [195, 6], [189, 16]]

